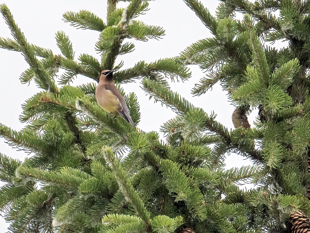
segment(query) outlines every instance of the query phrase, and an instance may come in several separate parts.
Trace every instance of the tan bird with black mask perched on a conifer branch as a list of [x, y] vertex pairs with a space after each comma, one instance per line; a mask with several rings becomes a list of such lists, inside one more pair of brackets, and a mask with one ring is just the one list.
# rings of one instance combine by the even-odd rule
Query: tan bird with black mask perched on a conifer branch
[[131, 119], [124, 97], [119, 93], [113, 82], [113, 71], [104, 70], [101, 72], [95, 94], [97, 103], [104, 111], [113, 114], [115, 117], [121, 116], [139, 131]]

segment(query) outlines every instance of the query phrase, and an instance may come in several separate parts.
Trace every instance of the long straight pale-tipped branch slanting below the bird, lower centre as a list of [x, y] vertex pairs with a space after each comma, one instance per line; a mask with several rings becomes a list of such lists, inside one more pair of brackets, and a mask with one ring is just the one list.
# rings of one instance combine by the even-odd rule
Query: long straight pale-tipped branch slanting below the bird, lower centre
[[138, 216], [143, 220], [145, 228], [149, 229], [150, 213], [144, 207], [144, 203], [142, 202], [142, 199], [139, 197], [138, 192], [136, 192], [133, 189], [132, 184], [128, 179], [128, 176], [122, 169], [120, 163], [115, 159], [114, 154], [112, 153], [110, 148], [108, 147], [103, 148], [101, 153], [104, 156], [105, 161], [109, 164], [109, 167], [113, 171], [121, 192], [135, 208], [136, 212], [138, 213]]

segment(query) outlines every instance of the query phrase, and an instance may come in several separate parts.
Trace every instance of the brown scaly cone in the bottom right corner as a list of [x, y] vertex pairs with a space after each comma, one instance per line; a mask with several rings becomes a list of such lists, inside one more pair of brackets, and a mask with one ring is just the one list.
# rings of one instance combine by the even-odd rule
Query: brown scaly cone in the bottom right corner
[[290, 215], [292, 233], [310, 233], [310, 220], [302, 211]]

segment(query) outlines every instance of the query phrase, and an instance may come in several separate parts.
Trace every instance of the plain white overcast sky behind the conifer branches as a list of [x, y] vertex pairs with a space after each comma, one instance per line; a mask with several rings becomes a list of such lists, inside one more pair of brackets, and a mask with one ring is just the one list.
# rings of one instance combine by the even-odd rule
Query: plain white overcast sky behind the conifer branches
[[[218, 1], [202, 1], [209, 11], [214, 15]], [[4, 0], [13, 14], [16, 24], [19, 26], [29, 43], [36, 44], [44, 48], [52, 49], [54, 54], [60, 54], [56, 45], [55, 33], [59, 30], [64, 31], [71, 42], [75, 51], [75, 59], [81, 53], [88, 53], [100, 60], [100, 54], [95, 51], [95, 43], [98, 40], [100, 32], [93, 30], [76, 29], [65, 23], [62, 14], [66, 11], [78, 12], [88, 10], [106, 20], [106, 1], [42, 1], [42, 0]], [[126, 6], [126, 3], [120, 2], [119, 7]], [[145, 15], [138, 17], [148, 25], [159, 25], [166, 30], [163, 39], [141, 42], [130, 39], [135, 44], [135, 50], [117, 58], [124, 61], [122, 69], [135, 65], [135, 63], [144, 60], [145, 62], [154, 62], [160, 58], [178, 56], [190, 44], [199, 39], [211, 37], [209, 30], [201, 23], [195, 13], [186, 6], [182, 0], [157, 0], [149, 2], [150, 10]], [[0, 37], [11, 38], [10, 30], [5, 24], [4, 19], [0, 18]], [[231, 115], [235, 107], [228, 102], [227, 92], [223, 91], [219, 84], [215, 85], [212, 91], [208, 91], [199, 97], [193, 97], [191, 89], [198, 80], [204, 76], [203, 71], [197, 66], [189, 66], [192, 71], [192, 78], [185, 83], [171, 83], [172, 90], [177, 91], [182, 97], [193, 103], [196, 107], [203, 108], [207, 113], [214, 111], [217, 114], [216, 120], [228, 127], [233, 128]], [[21, 104], [26, 99], [39, 92], [34, 82], [29, 86], [21, 84], [20, 74], [29, 68], [21, 53], [0, 49], [0, 123], [11, 127], [13, 130], [22, 129], [25, 124], [19, 122], [21, 113]], [[73, 85], [91, 82], [92, 80], [78, 75]], [[141, 121], [138, 127], [144, 131], [155, 130], [159, 132], [160, 126], [175, 117], [175, 113], [161, 103], [154, 103], [153, 99], [148, 100], [148, 95], [140, 88], [140, 80], [136, 83], [124, 84], [126, 94], [134, 91], [138, 95], [141, 111]], [[257, 111], [249, 117], [250, 124], [253, 126], [253, 120], [257, 116]], [[26, 153], [16, 151], [0, 138], [0, 152], [13, 158], [23, 160]], [[234, 166], [251, 164], [249, 160], [243, 160], [241, 156], [231, 154], [226, 159], [227, 168]], [[0, 232], [6, 232], [7, 223], [4, 223], [0, 217]], [[5, 227], [4, 227], [5, 226]]]

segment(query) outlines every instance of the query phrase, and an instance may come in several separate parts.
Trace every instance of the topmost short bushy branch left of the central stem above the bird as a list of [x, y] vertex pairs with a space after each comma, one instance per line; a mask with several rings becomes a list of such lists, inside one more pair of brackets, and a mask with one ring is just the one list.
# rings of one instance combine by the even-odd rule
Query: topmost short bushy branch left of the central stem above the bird
[[104, 21], [90, 11], [82, 10], [79, 13], [67, 11], [63, 14], [65, 22], [70, 22], [70, 25], [82, 29], [91, 29], [103, 31], [106, 28]]

